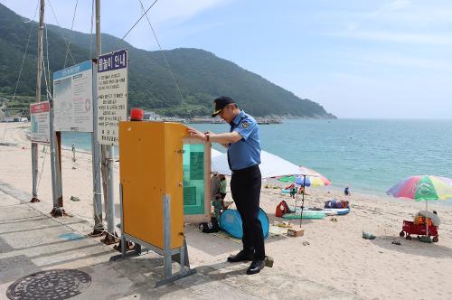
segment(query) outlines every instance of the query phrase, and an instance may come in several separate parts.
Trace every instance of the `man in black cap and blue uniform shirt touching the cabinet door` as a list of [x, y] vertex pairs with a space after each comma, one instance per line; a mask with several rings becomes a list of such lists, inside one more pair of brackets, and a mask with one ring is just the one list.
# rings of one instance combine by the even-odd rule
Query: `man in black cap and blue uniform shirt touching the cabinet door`
[[202, 133], [190, 128], [190, 136], [206, 142], [220, 143], [228, 148], [231, 168], [232, 199], [240, 213], [243, 228], [243, 249], [228, 258], [229, 262], [251, 260], [247, 274], [259, 273], [264, 268], [265, 248], [262, 224], [259, 220], [259, 198], [262, 177], [260, 175], [259, 126], [251, 117], [237, 107], [230, 97], [216, 98], [212, 117], [220, 117], [231, 125], [229, 133]]

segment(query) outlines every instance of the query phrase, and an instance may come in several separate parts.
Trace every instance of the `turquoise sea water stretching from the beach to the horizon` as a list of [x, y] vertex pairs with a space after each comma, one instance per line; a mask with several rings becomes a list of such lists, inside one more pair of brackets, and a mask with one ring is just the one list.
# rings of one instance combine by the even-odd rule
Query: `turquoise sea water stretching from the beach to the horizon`
[[[226, 124], [189, 125], [227, 132]], [[322, 173], [332, 186], [384, 194], [416, 174], [452, 178], [452, 120], [284, 120], [260, 125], [262, 149]], [[65, 133], [62, 143], [90, 150], [89, 134]], [[220, 145], [217, 150], [225, 151]]]

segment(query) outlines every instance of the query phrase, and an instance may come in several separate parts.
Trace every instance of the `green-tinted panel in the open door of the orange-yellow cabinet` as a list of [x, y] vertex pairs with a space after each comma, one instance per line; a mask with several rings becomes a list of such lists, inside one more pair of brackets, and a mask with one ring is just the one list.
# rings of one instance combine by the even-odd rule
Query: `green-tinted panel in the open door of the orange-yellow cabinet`
[[184, 214], [204, 213], [204, 145], [184, 145]]

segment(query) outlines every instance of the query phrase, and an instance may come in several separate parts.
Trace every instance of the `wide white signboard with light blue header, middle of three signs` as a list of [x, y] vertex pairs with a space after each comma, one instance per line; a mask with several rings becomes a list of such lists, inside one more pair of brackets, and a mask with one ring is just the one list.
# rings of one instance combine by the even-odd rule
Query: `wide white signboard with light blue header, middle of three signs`
[[92, 132], [92, 62], [53, 73], [55, 131]]

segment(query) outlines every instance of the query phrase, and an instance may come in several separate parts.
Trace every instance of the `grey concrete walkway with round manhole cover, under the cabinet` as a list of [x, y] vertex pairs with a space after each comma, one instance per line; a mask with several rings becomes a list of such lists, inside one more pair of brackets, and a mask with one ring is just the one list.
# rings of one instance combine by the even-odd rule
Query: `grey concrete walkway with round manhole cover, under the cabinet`
[[[154, 288], [163, 273], [160, 256], [149, 253], [110, 262], [109, 258], [118, 252], [99, 239], [81, 234], [91, 229], [87, 220], [53, 219], [34, 209], [29, 199], [26, 192], [0, 183], [1, 299], [6, 298], [6, 290], [15, 280], [51, 269], [77, 269], [89, 274], [91, 284], [71, 299], [356, 298], [306, 277], [289, 276], [283, 268], [266, 268], [259, 275], [247, 276], [247, 265], [231, 265], [223, 260], [200, 265], [195, 275]], [[203, 233], [188, 234], [189, 245], [193, 234]]]

